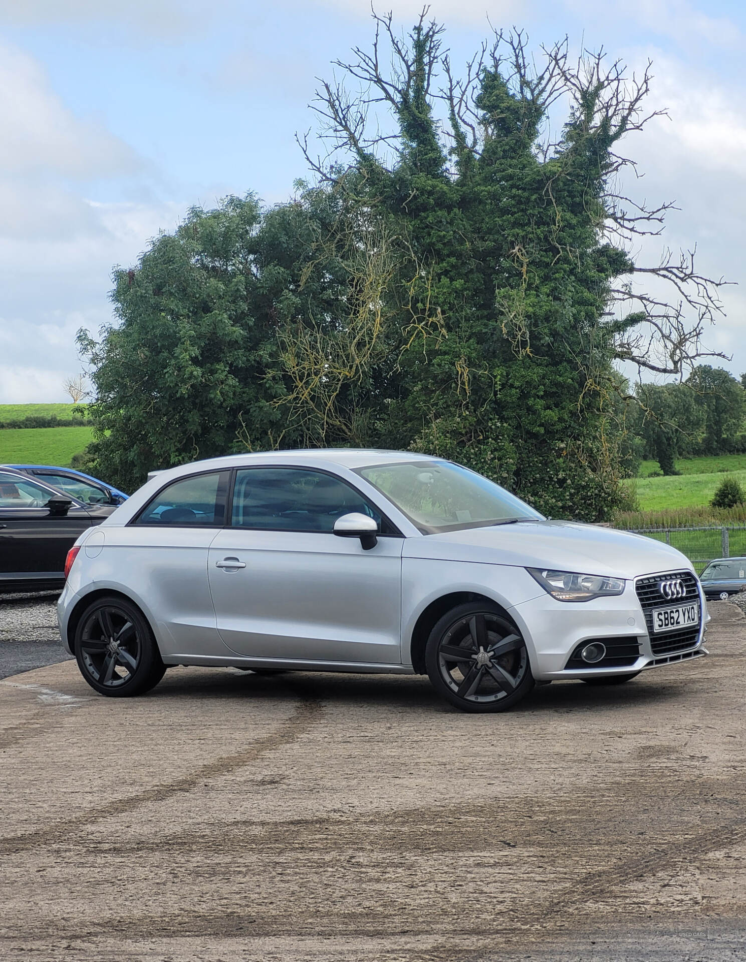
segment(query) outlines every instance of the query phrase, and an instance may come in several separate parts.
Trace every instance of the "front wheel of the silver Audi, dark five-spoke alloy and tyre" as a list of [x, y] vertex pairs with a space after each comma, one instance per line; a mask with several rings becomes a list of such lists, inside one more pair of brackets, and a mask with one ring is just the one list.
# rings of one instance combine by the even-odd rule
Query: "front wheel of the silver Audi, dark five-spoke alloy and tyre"
[[502, 712], [534, 688], [518, 628], [478, 601], [444, 615], [430, 633], [425, 667], [435, 691], [465, 712]]

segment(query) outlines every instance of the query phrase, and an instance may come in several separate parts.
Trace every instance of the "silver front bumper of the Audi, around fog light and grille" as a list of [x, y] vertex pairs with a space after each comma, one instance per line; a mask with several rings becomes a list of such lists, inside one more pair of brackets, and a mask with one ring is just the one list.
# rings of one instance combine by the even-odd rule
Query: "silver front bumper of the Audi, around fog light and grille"
[[[704, 657], [708, 654], [704, 641], [709, 614], [701, 590], [700, 612], [699, 633], [691, 646], [656, 655], [635, 593], [634, 581], [627, 583], [622, 595], [585, 602], [563, 602], [551, 595], [541, 595], [510, 609], [510, 615], [529, 647], [532, 672], [537, 681], [633, 674]], [[638, 657], [619, 667], [566, 668], [578, 646], [609, 640], [620, 645], [629, 643], [638, 646]]]

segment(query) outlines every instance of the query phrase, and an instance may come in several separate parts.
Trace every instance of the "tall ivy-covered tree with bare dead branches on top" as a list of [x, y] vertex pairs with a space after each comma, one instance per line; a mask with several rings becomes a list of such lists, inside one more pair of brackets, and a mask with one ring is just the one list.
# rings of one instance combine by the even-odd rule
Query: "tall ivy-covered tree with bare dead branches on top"
[[[458, 78], [424, 15], [406, 38], [374, 19], [372, 48], [319, 91], [331, 157], [306, 149], [328, 190], [409, 239], [442, 318], [428, 363], [400, 362], [392, 435], [376, 440], [454, 457], [552, 515], [607, 518], [623, 496], [614, 362], [681, 375], [719, 310], [720, 282], [692, 257], [649, 267], [627, 252], [667, 209], [615, 192], [649, 74], [628, 80], [602, 55], [572, 64], [564, 44], [535, 68], [523, 35], [498, 34]], [[652, 275], [671, 304], [634, 283]]]

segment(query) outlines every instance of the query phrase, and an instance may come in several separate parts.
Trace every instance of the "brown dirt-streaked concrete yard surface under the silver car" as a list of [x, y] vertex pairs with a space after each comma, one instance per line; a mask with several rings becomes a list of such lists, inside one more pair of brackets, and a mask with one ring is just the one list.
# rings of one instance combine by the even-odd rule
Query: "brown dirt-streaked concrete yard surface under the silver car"
[[746, 958], [746, 620], [628, 685], [0, 681], [0, 959]]

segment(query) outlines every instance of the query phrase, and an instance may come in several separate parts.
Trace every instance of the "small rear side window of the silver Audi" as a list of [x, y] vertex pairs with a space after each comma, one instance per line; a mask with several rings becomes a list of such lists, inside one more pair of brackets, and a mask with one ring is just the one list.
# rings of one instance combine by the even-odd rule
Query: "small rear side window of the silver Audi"
[[182, 478], [156, 494], [139, 513], [135, 523], [222, 527], [227, 489], [228, 471]]

